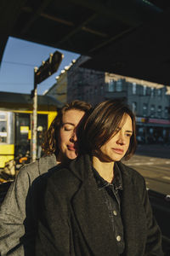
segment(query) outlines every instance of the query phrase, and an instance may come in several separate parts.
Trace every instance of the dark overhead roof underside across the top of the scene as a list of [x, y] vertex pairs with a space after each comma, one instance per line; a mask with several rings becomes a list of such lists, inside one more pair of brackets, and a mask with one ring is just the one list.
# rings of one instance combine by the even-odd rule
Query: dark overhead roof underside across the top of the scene
[[8, 37], [66, 49], [84, 67], [169, 85], [169, 0], [2, 0], [0, 61]]

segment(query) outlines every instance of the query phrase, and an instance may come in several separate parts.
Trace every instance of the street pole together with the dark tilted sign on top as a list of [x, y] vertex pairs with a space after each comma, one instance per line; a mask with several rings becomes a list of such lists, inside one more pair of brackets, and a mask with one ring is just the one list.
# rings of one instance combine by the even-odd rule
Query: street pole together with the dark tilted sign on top
[[48, 79], [55, 73], [64, 58], [59, 51], [50, 54], [47, 61], [42, 61], [42, 66], [34, 67], [34, 89], [31, 90], [31, 98], [33, 99], [32, 124], [31, 124], [31, 161], [37, 160], [37, 84]]

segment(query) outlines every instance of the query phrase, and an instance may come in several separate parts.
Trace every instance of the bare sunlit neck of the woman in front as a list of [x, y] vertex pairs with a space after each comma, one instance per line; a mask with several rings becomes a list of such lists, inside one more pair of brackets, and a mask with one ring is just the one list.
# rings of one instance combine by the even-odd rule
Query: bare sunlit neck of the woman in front
[[108, 183], [111, 183], [114, 178], [114, 161], [104, 162], [99, 160], [98, 157], [93, 156], [92, 162], [95, 170], [99, 172], [99, 175], [103, 177]]

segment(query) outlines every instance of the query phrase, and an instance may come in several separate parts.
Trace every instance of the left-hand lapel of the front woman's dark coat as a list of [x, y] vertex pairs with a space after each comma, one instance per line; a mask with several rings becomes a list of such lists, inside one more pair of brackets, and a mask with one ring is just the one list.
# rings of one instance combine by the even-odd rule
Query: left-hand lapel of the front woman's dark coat
[[91, 166], [90, 162], [86, 162], [86, 166], [88, 167], [85, 172], [88, 172], [88, 177], [83, 180], [81, 188], [72, 201], [73, 212], [94, 255], [118, 255], [102, 191], [97, 188], [92, 170], [88, 170]]

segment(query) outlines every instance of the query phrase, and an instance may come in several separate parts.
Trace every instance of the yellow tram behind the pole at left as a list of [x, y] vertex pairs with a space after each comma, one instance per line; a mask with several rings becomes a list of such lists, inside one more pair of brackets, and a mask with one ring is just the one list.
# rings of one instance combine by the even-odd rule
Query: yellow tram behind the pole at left
[[[61, 103], [51, 96], [37, 97], [37, 133], [48, 129], [60, 107]], [[31, 120], [30, 95], [0, 92], [0, 168], [30, 150]]]

